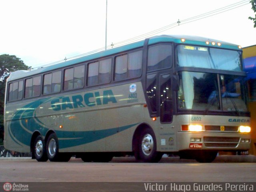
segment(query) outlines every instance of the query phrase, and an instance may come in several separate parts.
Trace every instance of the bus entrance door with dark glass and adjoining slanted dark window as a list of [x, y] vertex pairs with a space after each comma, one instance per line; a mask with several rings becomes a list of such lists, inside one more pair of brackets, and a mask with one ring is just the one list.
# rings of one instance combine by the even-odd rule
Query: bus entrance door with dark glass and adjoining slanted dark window
[[171, 75], [166, 72], [147, 74], [146, 93], [151, 117], [157, 117], [154, 125], [158, 150], [175, 150], [176, 134], [172, 128], [172, 88]]

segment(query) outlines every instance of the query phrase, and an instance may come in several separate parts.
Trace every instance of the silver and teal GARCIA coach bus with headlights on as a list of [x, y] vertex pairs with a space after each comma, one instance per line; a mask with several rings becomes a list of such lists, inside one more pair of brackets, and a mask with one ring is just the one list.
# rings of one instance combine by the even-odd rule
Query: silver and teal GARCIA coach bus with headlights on
[[13, 72], [4, 147], [38, 161], [212, 162], [250, 148], [245, 77], [240, 46], [178, 35]]

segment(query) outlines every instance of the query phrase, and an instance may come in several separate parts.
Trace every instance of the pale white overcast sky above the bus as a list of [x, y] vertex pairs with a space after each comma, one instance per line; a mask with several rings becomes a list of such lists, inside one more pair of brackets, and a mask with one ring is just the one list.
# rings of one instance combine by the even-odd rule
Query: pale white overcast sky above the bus
[[[183, 21], [238, 2], [248, 4], [189, 23]], [[255, 15], [249, 2], [108, 0], [107, 45], [116, 47], [118, 42], [175, 23], [174, 28], [153, 36], [202, 36], [252, 46], [256, 44], [256, 28], [248, 19]], [[37, 68], [104, 48], [106, 0], [2, 0], [0, 26], [0, 55], [16, 55], [27, 66]]]

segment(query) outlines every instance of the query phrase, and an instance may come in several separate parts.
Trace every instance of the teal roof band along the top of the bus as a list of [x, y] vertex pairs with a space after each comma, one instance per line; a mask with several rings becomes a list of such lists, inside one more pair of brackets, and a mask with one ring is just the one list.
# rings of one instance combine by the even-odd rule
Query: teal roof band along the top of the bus
[[[182, 42], [182, 38], [185, 39], [185, 42]], [[209, 46], [209, 47], [218, 47], [218, 48], [226, 48], [226, 49], [233, 49], [233, 50], [241, 50], [238, 48], [237, 45], [235, 44], [231, 44], [228, 42], [222, 42], [219, 40], [214, 40], [214, 39], [210, 39], [210, 38], [204, 38], [204, 37], [198, 37], [198, 36], [186, 36], [186, 35], [160, 35], [160, 36], [154, 36], [149, 38], [149, 42], [148, 45], [150, 44], [155, 44], [158, 42], [175, 42], [178, 44], [192, 44], [192, 45], [198, 45], [198, 46]], [[210, 44], [206, 45], [206, 42], [210, 42]], [[215, 42], [216, 45], [212, 45], [211, 42]], [[221, 46], [217, 46], [217, 42], [221, 43]], [[97, 58], [102, 58], [102, 57], [106, 57], [106, 56], [111, 56], [113, 54], [117, 54], [119, 52], [124, 52], [127, 50], [132, 50], [135, 48], [140, 48], [142, 47], [144, 44], [144, 40], [139, 41], [139, 42], [135, 42], [132, 44], [127, 44], [124, 46], [120, 46], [117, 48], [112, 48], [106, 51], [102, 51], [102, 52], [98, 52], [95, 54], [90, 54], [87, 56], [83, 56], [77, 59], [73, 59], [73, 60], [69, 60], [66, 62], [61, 62], [55, 65], [51, 65], [45, 68], [38, 68], [36, 70], [32, 70], [32, 71], [16, 71], [16, 72], [12, 72], [8, 78], [8, 81], [12, 81], [12, 80], [16, 80], [16, 79], [20, 79], [20, 78], [24, 78], [24, 77], [28, 77], [28, 76], [33, 76], [35, 74], [40, 74], [40, 73], [44, 73], [44, 72], [48, 72], [48, 71], [52, 71], [52, 70], [57, 70], [59, 68], [64, 68], [64, 67], [68, 67], [68, 66], [72, 66], [73, 64], [78, 64], [78, 63], [83, 63], [83, 62], [87, 62], [90, 60], [94, 60]]]

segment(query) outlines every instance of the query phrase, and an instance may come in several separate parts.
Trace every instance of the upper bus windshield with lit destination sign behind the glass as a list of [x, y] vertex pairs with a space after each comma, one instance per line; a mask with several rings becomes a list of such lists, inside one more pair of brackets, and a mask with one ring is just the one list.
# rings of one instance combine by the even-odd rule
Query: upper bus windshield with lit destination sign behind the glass
[[179, 45], [178, 66], [242, 72], [241, 51]]

